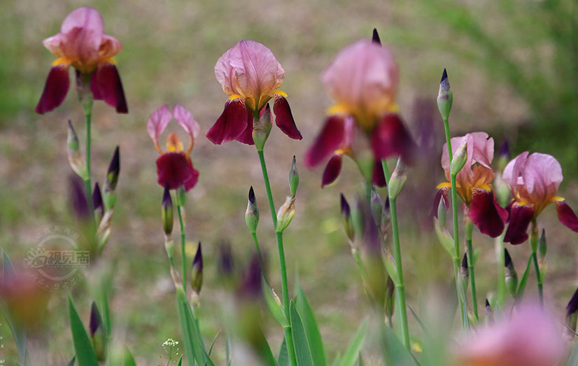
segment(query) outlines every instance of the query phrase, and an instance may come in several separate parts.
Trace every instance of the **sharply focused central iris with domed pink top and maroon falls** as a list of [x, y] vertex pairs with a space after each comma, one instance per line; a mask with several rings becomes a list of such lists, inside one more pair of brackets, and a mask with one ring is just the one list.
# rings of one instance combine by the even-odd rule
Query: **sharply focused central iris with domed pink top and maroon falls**
[[279, 129], [291, 139], [302, 139], [287, 94], [279, 90], [285, 70], [265, 45], [247, 40], [237, 43], [219, 57], [215, 76], [229, 100], [206, 133], [212, 143], [237, 140], [253, 145], [253, 118], [259, 118], [270, 99], [274, 99], [273, 112]]

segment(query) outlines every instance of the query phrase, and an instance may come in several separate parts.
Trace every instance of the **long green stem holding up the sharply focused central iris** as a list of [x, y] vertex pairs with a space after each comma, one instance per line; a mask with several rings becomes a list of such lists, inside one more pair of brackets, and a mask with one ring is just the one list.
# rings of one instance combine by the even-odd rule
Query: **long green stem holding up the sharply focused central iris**
[[[273, 195], [271, 193], [271, 185], [269, 184], [269, 174], [267, 174], [267, 164], [265, 164], [265, 155], [263, 155], [263, 150], [257, 150], [259, 155], [259, 160], [261, 162], [261, 171], [263, 173], [263, 181], [265, 182], [265, 190], [267, 191], [267, 199], [269, 199], [269, 209], [271, 209], [271, 217], [273, 219], [273, 226], [277, 227], [277, 216], [275, 211], [275, 204], [273, 203]], [[287, 284], [287, 269], [285, 265], [285, 251], [283, 251], [283, 233], [277, 232], [275, 230], [275, 237], [277, 240], [277, 249], [279, 251], [279, 267], [281, 267], [281, 288], [283, 294], [283, 310], [285, 311], [285, 317], [287, 318], [287, 323], [290, 324], [290, 313], [289, 313], [289, 289]], [[290, 325], [283, 328], [283, 333], [285, 334], [285, 342], [287, 345], [287, 351], [289, 354], [289, 361], [291, 366], [297, 365], [297, 356], [295, 356], [295, 346], [293, 345], [293, 338], [291, 333]]]

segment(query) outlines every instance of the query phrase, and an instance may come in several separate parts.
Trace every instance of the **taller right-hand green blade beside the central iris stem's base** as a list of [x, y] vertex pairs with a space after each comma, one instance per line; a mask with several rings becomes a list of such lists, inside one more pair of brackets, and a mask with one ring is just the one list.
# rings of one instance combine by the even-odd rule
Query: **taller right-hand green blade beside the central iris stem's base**
[[295, 306], [297, 308], [297, 313], [301, 316], [301, 321], [303, 323], [305, 334], [307, 336], [307, 343], [309, 344], [309, 349], [311, 350], [311, 358], [313, 360], [313, 365], [315, 366], [325, 366], [327, 361], [325, 361], [325, 351], [323, 351], [323, 342], [321, 341], [321, 334], [315, 321], [315, 316], [313, 316], [313, 310], [307, 301], [307, 297], [303, 291], [303, 288], [297, 280], [297, 295], [295, 296]]

